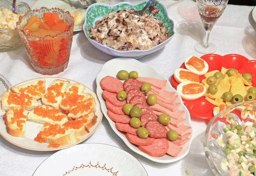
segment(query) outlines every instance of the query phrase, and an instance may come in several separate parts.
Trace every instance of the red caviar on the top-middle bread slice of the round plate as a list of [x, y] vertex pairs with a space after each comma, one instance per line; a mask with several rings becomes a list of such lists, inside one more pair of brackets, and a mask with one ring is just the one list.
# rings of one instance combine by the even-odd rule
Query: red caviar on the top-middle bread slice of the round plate
[[[61, 92], [61, 88], [63, 86], [63, 82], [61, 83], [56, 83], [54, 85], [51, 85], [48, 89], [47, 89], [47, 94], [45, 95], [45, 99], [47, 99], [47, 102], [49, 103], [56, 103], [56, 97], [61, 96], [62, 98], [64, 97], [64, 94]], [[55, 94], [53, 93], [55, 92]]]

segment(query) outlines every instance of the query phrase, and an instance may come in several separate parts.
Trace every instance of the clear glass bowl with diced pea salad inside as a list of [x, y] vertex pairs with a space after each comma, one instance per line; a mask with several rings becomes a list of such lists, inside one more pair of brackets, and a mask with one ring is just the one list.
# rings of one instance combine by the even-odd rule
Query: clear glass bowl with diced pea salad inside
[[216, 176], [256, 176], [256, 100], [214, 116], [205, 132], [204, 152]]

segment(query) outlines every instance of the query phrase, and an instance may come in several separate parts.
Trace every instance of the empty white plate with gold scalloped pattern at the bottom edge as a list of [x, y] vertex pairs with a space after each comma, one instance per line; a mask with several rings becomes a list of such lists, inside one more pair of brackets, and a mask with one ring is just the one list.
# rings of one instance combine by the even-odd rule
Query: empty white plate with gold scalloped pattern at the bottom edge
[[[49, 169], [53, 168], [54, 169]], [[141, 163], [111, 145], [86, 143], [47, 158], [33, 176], [148, 176]]]

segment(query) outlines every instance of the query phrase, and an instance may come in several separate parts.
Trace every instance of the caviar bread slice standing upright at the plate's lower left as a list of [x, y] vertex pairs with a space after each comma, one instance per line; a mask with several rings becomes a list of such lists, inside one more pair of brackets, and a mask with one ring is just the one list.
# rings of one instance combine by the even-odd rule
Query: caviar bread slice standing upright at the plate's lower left
[[26, 129], [28, 111], [23, 108], [11, 108], [6, 112], [7, 133], [15, 137], [23, 137]]

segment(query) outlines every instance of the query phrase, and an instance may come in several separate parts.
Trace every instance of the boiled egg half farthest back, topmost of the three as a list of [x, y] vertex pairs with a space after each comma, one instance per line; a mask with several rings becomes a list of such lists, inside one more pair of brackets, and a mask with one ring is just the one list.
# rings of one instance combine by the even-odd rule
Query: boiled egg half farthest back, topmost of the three
[[209, 65], [207, 64], [207, 62], [195, 56], [188, 57], [185, 60], [185, 67], [189, 71], [192, 71], [199, 76], [206, 74], [209, 70]]

